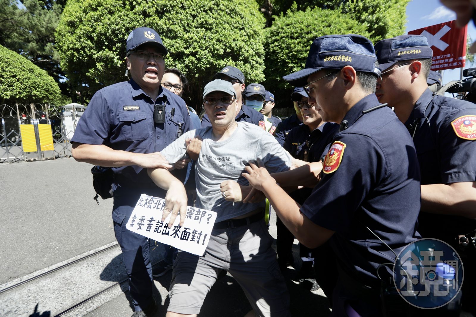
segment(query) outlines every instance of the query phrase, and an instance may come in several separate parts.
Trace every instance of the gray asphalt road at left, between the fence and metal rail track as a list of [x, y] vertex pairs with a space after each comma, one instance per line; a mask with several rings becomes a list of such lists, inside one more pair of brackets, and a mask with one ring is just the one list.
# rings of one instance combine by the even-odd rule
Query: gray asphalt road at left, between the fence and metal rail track
[[112, 199], [74, 158], [0, 164], [0, 285], [115, 241]]

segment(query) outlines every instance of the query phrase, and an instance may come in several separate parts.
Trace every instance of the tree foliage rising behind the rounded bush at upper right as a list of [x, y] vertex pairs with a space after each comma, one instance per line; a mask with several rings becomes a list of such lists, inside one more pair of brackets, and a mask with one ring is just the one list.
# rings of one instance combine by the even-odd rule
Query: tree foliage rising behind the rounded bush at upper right
[[[318, 7], [338, 10], [352, 17], [367, 30], [373, 42], [405, 32], [407, 4], [410, 0], [296, 0], [297, 10]], [[293, 1], [273, 0], [274, 14], [286, 12]]]

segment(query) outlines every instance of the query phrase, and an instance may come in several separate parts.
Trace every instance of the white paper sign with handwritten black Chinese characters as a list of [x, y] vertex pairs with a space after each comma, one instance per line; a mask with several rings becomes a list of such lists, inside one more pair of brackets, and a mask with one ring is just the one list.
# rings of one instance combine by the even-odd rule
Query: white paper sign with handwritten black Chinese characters
[[183, 227], [180, 227], [180, 219], [177, 217], [172, 228], [168, 228], [170, 215], [165, 221], [160, 221], [164, 207], [165, 199], [146, 194], [140, 195], [126, 228], [180, 250], [203, 255], [217, 219], [217, 213], [188, 206]]

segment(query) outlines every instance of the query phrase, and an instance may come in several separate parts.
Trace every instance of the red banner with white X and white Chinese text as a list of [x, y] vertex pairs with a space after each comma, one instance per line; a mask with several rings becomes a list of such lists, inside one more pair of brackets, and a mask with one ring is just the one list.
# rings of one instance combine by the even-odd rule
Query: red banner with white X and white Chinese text
[[454, 69], [465, 66], [468, 26], [456, 28], [456, 20], [409, 31], [423, 35], [433, 50], [431, 70]]

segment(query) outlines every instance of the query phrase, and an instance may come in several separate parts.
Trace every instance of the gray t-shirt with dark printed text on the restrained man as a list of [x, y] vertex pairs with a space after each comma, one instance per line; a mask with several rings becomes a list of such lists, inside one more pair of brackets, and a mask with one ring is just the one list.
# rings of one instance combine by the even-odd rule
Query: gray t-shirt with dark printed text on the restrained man
[[176, 162], [186, 153], [185, 139], [202, 137], [202, 147], [195, 165], [195, 183], [197, 186], [198, 208], [218, 213], [217, 220], [223, 221], [244, 215], [264, 206], [264, 201], [243, 204], [226, 201], [220, 192], [220, 183], [230, 179], [240, 185], [248, 185], [248, 180], [241, 176], [249, 160], [261, 158], [270, 173], [286, 171], [291, 167], [291, 156], [276, 141], [275, 137], [257, 125], [238, 122], [237, 129], [226, 140], [215, 142], [212, 129], [190, 130], [169, 144], [160, 153]]

